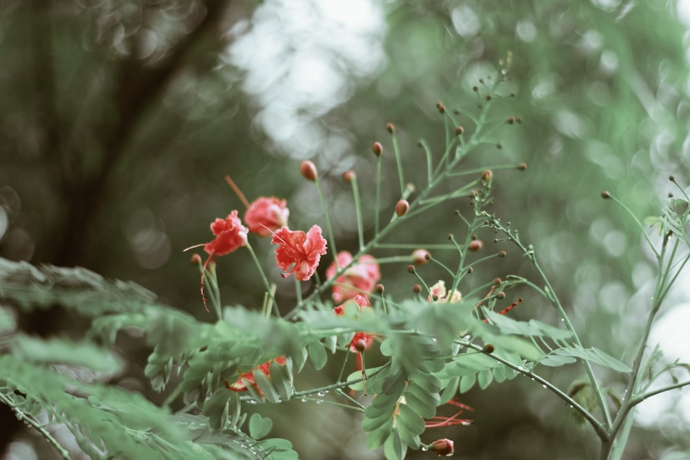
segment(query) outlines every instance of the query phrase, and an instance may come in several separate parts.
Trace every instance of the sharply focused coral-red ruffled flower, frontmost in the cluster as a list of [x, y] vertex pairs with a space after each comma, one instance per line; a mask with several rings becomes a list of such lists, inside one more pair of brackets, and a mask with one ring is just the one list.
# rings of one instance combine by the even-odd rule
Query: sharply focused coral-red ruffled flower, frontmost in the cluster
[[326, 239], [322, 237], [319, 226], [313, 226], [307, 233], [282, 227], [273, 233], [270, 243], [278, 245], [275, 248], [277, 266], [290, 270], [281, 276], [287, 278], [295, 273], [299, 281], [310, 279], [319, 266], [321, 256], [326, 254]]

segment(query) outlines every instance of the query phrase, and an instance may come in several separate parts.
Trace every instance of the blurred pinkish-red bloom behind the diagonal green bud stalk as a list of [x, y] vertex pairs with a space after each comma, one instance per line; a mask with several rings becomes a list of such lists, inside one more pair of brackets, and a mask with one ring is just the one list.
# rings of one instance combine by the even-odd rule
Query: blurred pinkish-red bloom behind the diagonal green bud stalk
[[[337, 266], [331, 263], [326, 270], [326, 277], [335, 276], [337, 267], [346, 267], [352, 262], [352, 254], [347, 251], [338, 252]], [[353, 263], [347, 270], [335, 279], [333, 285], [333, 300], [336, 302], [352, 299], [356, 294], [362, 294], [368, 299], [373, 292], [376, 283], [381, 279], [381, 271], [376, 259], [369, 254], [359, 257], [357, 263]]]

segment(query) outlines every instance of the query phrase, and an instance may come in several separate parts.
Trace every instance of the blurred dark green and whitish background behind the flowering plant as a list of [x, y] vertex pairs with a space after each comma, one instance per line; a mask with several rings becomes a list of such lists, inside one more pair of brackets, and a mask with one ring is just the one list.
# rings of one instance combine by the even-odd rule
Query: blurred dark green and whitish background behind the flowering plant
[[[371, 204], [371, 143], [382, 141], [383, 201], [392, 209], [397, 177], [386, 123], [400, 136], [406, 179], [421, 182], [418, 139], [435, 152], [444, 146], [435, 103], [460, 111], [472, 130], [462, 117], [477, 111], [472, 87], [482, 90], [480, 79], [495, 78], [505, 67], [499, 62], [511, 59], [492, 117], [497, 125], [509, 116], [523, 123], [497, 130], [502, 148], [484, 146], [466, 166], [528, 163], [524, 172], [496, 170], [493, 212], [534, 244], [584, 343], [630, 359], [649, 308], [653, 263], [633, 221], [600, 192], [610, 190], [644, 217], [660, 214], [669, 174], [688, 183], [689, 25], [687, 0], [3, 0], [0, 256], [130, 279], [204, 318], [198, 271], [182, 251], [210, 240], [215, 217], [242, 209], [224, 174], [250, 200], [288, 199], [290, 226], [306, 230], [323, 224], [313, 184], [297, 170], [311, 159], [337, 247], [353, 250], [342, 172], [357, 172]], [[449, 232], [462, 232], [455, 209], [469, 211], [467, 201], [411, 221], [395, 241], [446, 242]], [[369, 214], [370, 236], [372, 222]], [[493, 234], [480, 237], [490, 243]], [[257, 245], [279, 282], [270, 245]], [[501, 248], [509, 257], [486, 266], [476, 283], [533, 274], [515, 250], [510, 257], [512, 248]], [[386, 292], [411, 292], [404, 264], [382, 271]], [[225, 303], [259, 308], [263, 287], [246, 252], [220, 259], [218, 272]], [[420, 272], [431, 283], [440, 273]], [[279, 286], [279, 296], [286, 292]], [[518, 294], [525, 301], [515, 317], [555, 321], [534, 294]], [[687, 312], [684, 296], [687, 290], [673, 294], [664, 313], [676, 304], [673, 314]], [[78, 336], [88, 326], [59, 308], [21, 321], [43, 335]], [[681, 328], [669, 347], [675, 359], [687, 349], [687, 326], [670, 323]], [[128, 378], [137, 377], [137, 366], [141, 377], [145, 362], [135, 359]], [[559, 369], [551, 379], [566, 388], [578, 372]], [[599, 377], [623, 386], [603, 370]], [[328, 376], [299, 378], [307, 386]], [[141, 391], [150, 389], [142, 383]], [[475, 408], [473, 425], [425, 439], [455, 439], [457, 458], [595, 456], [593, 433], [531, 381], [472, 390], [462, 401]], [[272, 435], [293, 441], [304, 459], [382, 458], [363, 447], [357, 417], [327, 406], [267, 408], [276, 417]], [[625, 458], [690, 458], [682, 407], [660, 399], [640, 408]], [[45, 443], [36, 446], [9, 410], [0, 412], [0, 452], [50, 458]]]

